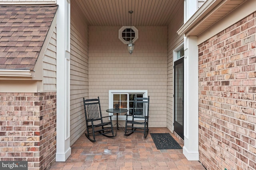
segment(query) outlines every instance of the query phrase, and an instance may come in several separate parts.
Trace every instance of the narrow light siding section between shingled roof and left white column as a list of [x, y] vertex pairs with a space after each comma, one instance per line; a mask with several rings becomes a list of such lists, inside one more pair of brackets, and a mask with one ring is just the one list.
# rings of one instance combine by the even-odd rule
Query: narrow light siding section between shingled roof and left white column
[[56, 91], [56, 26], [43, 57], [43, 90]]

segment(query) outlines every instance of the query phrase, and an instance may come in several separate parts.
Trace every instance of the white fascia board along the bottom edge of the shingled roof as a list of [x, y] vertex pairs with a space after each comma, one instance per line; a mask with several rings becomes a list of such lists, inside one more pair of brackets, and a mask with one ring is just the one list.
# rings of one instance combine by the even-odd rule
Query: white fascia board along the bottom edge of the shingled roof
[[34, 70], [0, 70], [0, 76], [8, 77], [34, 77]]

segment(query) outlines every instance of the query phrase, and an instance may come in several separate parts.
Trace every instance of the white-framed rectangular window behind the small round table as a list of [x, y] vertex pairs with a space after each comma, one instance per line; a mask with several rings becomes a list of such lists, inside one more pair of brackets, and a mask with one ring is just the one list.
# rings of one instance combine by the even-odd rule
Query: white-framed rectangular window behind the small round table
[[[119, 105], [119, 108], [128, 109], [128, 114], [132, 113], [134, 98], [148, 97], [148, 90], [109, 90], [108, 92], [108, 108], [115, 108], [115, 104]], [[118, 120], [125, 120], [126, 113], [118, 113]], [[113, 113], [109, 113], [113, 115]], [[116, 113], [114, 113], [112, 120], [116, 120]]]

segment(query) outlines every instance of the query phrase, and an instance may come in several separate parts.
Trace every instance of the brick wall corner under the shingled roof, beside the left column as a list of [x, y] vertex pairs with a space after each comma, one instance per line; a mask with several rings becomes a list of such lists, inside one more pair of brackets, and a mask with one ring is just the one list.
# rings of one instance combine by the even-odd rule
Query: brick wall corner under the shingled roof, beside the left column
[[56, 92], [0, 93], [0, 128], [0, 160], [49, 169], [56, 154]]

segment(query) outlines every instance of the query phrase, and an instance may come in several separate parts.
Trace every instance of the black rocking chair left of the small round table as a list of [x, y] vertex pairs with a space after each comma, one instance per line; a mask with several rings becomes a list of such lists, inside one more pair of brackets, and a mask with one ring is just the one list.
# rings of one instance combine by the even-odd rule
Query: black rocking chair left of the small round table
[[[84, 98], [83, 98], [84, 100]], [[84, 100], [84, 112], [86, 120], [85, 136], [92, 142], [95, 142], [95, 136], [104, 135], [106, 137], [114, 137], [112, 116], [102, 117], [100, 108], [100, 98]], [[102, 118], [109, 118], [109, 121], [103, 122]], [[112, 135], [106, 135], [112, 133]], [[90, 138], [92, 134], [93, 139]]]

